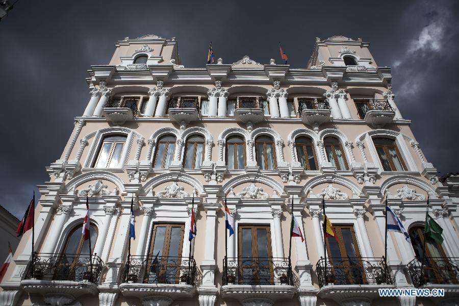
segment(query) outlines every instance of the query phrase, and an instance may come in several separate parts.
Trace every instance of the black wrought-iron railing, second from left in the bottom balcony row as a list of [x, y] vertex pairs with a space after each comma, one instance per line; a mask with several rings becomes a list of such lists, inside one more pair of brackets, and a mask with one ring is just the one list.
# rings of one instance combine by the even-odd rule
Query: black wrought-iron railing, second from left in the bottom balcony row
[[194, 286], [196, 262], [188, 257], [130, 256], [127, 259], [123, 283], [179, 284]]

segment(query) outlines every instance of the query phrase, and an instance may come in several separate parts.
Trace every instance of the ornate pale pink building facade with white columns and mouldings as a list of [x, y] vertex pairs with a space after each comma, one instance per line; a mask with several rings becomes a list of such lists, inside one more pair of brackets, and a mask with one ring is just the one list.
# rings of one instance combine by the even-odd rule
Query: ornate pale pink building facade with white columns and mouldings
[[[0, 305], [457, 304], [457, 193], [368, 43], [317, 39], [306, 68], [248, 56], [187, 68], [175, 38], [156, 35], [115, 45], [89, 70], [89, 103], [39, 186], [34, 264], [29, 231]], [[389, 233], [387, 259], [386, 197], [411, 237]], [[421, 267], [427, 197], [444, 242], [425, 240]], [[337, 236], [326, 250], [322, 198]], [[289, 258], [292, 206], [304, 242], [292, 239]], [[445, 297], [378, 296], [415, 287]]]

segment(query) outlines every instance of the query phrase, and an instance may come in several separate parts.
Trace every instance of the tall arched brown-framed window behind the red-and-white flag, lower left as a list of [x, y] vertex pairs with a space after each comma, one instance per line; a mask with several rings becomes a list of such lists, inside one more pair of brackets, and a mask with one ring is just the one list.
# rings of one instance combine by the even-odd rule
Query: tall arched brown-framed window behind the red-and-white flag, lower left
[[[83, 224], [75, 226], [68, 235], [59, 261], [55, 263], [57, 264], [54, 267], [53, 277], [55, 279], [70, 279], [72, 281], [83, 281], [83, 279], [87, 279], [85, 274], [90, 269], [91, 261], [89, 254], [94, 253], [94, 245], [97, 240], [97, 228], [90, 224], [90, 239], [83, 240], [82, 227]], [[91, 252], [89, 251], [89, 241], [91, 241]], [[92, 256], [92, 262], [97, 263], [97, 260], [94, 259], [94, 255]]]

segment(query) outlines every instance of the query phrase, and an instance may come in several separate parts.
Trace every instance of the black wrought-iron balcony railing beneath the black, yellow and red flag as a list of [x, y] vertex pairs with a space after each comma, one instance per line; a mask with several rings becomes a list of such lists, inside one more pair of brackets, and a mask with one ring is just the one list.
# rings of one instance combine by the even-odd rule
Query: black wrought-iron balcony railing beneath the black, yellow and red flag
[[320, 258], [316, 265], [319, 286], [393, 284], [382, 258]]

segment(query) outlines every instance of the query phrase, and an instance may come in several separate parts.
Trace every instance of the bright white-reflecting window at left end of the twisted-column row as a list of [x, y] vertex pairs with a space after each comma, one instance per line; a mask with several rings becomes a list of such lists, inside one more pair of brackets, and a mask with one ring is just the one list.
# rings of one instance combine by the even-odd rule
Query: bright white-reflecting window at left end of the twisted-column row
[[94, 168], [119, 168], [125, 143], [126, 136], [124, 135], [105, 136], [97, 153]]

